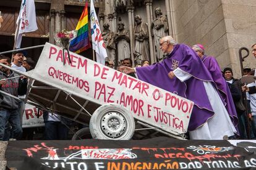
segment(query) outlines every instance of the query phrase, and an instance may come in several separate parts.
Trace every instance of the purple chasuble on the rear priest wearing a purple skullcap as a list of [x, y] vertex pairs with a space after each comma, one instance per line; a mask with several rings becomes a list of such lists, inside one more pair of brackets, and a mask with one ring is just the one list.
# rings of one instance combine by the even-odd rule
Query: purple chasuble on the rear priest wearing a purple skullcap
[[208, 71], [210, 71], [211, 73], [211, 77], [213, 78], [213, 81], [215, 82], [218, 88], [218, 92], [220, 94], [221, 99], [223, 100], [226, 110], [228, 111], [232, 123], [234, 124], [235, 127], [237, 127], [238, 118], [236, 108], [234, 106], [233, 98], [229, 90], [228, 84], [226, 83], [225, 79], [222, 76], [218, 62], [214, 57], [207, 55], [204, 55], [202, 57], [202, 61], [207, 67]]

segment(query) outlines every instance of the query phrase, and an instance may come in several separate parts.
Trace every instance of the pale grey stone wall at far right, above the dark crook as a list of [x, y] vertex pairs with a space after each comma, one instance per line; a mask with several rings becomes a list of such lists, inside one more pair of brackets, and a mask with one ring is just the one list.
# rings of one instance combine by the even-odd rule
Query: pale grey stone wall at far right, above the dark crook
[[240, 76], [239, 48], [247, 47], [249, 57], [243, 62], [244, 67], [255, 68], [256, 60], [252, 55], [251, 46], [256, 43], [256, 1], [222, 0], [224, 22], [228, 38], [230, 66], [234, 75]]

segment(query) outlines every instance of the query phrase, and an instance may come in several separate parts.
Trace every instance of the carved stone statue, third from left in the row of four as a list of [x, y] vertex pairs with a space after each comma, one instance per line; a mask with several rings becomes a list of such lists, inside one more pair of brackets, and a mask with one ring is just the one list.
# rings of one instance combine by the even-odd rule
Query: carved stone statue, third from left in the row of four
[[135, 48], [134, 57], [135, 65], [140, 64], [142, 60], [149, 60], [149, 47], [148, 47], [148, 26], [142, 22], [140, 15], [134, 17], [134, 36], [135, 36]]

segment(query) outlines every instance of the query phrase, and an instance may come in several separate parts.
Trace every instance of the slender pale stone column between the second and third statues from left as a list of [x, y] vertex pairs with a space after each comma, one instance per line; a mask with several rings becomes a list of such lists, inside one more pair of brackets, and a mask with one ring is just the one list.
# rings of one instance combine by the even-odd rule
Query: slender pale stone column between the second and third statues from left
[[130, 33], [130, 54], [132, 59], [132, 66], [134, 67], [134, 7], [127, 6], [128, 19], [129, 19], [129, 33]]

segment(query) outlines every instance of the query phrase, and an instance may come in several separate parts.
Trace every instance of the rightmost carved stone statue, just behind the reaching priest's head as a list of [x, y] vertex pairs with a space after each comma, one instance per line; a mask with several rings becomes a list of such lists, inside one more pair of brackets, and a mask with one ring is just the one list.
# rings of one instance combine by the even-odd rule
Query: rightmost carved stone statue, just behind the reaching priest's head
[[155, 42], [156, 58], [158, 61], [163, 60], [164, 53], [160, 49], [159, 40], [164, 36], [168, 36], [168, 21], [165, 15], [161, 12], [161, 8], [155, 9], [155, 20], [153, 20], [151, 28], [153, 29], [153, 36]]

